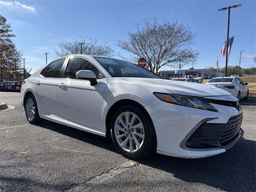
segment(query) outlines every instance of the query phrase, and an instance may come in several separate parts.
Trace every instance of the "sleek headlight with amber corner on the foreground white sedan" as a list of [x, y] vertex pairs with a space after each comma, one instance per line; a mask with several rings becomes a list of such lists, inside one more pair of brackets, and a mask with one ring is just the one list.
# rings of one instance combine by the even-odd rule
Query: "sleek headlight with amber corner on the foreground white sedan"
[[153, 94], [163, 102], [218, 112], [214, 106], [202, 98], [156, 92]]

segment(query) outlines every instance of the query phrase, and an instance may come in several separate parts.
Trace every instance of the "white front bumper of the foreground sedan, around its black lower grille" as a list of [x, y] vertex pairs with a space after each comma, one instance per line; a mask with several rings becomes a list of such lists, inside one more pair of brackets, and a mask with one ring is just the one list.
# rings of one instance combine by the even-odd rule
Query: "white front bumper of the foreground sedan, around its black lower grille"
[[157, 153], [182, 158], [202, 158], [226, 152], [243, 136], [240, 129], [229, 146], [219, 146], [205, 149], [184, 147], [184, 142], [203, 123], [226, 124], [230, 117], [242, 114], [242, 109], [212, 104], [218, 112], [190, 108], [186, 106], [156, 102], [146, 106], [150, 114], [157, 137]]

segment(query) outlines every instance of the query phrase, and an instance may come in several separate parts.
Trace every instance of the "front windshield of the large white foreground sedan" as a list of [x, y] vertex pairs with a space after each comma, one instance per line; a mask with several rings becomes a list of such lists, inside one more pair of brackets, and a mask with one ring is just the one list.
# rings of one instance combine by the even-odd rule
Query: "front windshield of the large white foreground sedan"
[[94, 57], [104, 69], [112, 77], [139, 77], [139, 78], [152, 78], [161, 79], [156, 74], [146, 70], [136, 64], [132, 64], [127, 61], [105, 58], [105, 57]]

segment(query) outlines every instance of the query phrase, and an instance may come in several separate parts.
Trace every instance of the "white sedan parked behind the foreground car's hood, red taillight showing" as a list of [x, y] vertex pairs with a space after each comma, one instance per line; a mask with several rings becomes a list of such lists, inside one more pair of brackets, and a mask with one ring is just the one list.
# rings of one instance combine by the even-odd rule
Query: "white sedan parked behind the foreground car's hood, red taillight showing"
[[216, 77], [208, 81], [206, 85], [215, 86], [225, 90], [236, 96], [239, 100], [241, 98], [249, 98], [249, 89], [246, 86], [248, 83], [244, 83], [238, 77]]

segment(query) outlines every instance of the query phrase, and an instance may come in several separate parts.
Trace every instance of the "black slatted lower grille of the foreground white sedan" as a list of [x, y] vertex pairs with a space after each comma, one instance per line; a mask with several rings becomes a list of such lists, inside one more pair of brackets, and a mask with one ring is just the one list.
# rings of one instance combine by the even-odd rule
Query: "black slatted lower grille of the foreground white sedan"
[[187, 148], [225, 147], [239, 134], [243, 114], [231, 117], [226, 124], [203, 123], [186, 142]]

